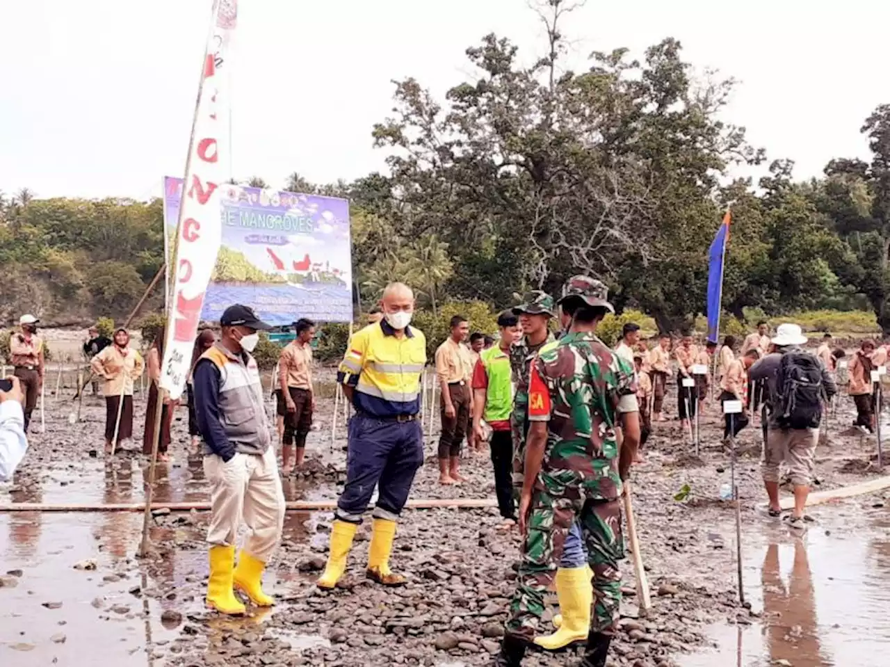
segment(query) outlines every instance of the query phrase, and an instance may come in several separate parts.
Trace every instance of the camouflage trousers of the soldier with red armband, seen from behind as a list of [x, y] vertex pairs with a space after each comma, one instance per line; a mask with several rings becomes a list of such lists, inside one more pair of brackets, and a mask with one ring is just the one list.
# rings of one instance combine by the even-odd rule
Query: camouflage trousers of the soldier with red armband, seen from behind
[[578, 521], [594, 572], [594, 609], [590, 630], [611, 634], [619, 619], [621, 572], [624, 557], [621, 501], [554, 497], [536, 491], [531, 500], [529, 531], [522, 545], [516, 592], [510, 603], [506, 633], [531, 641], [544, 614], [544, 597], [554, 581], [562, 547], [571, 525]]

